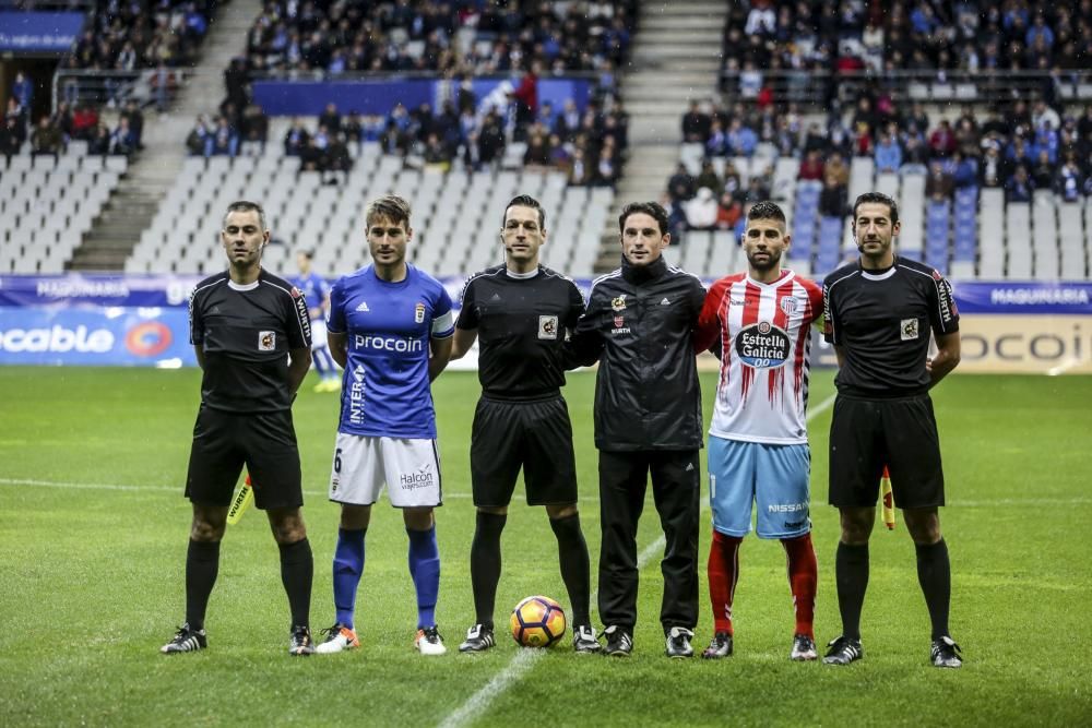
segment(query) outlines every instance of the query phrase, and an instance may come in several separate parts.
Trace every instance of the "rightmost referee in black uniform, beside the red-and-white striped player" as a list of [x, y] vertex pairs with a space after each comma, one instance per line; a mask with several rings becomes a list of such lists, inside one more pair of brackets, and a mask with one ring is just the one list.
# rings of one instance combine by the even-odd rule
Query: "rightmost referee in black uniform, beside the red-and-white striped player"
[[[917, 549], [917, 578], [933, 622], [930, 659], [936, 667], [960, 667], [959, 646], [948, 633], [951, 568], [937, 513], [945, 504], [945, 477], [929, 398], [929, 389], [959, 363], [959, 313], [943, 276], [894, 254], [899, 208], [891, 198], [862, 194], [852, 224], [859, 260], [823, 282], [824, 335], [839, 365], [830, 502], [842, 522], [834, 564], [842, 635], [823, 661], [847, 665], [864, 656], [868, 537], [887, 464], [894, 502]], [[930, 333], [937, 343], [931, 359]]]

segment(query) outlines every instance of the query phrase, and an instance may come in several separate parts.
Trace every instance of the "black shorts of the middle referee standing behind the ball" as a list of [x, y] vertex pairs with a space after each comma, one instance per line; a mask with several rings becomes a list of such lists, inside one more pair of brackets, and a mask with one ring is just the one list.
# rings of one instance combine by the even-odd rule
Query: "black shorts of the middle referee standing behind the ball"
[[560, 395], [478, 401], [471, 435], [474, 505], [508, 505], [521, 467], [529, 505], [577, 502], [572, 425]]

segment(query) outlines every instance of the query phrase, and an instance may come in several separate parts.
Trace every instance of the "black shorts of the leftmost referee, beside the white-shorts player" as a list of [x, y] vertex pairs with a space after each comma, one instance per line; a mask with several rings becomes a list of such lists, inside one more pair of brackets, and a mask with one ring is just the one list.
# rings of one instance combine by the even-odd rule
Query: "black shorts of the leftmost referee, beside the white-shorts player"
[[202, 406], [193, 426], [186, 497], [194, 503], [230, 505], [244, 465], [258, 508], [304, 504], [290, 410], [236, 415]]

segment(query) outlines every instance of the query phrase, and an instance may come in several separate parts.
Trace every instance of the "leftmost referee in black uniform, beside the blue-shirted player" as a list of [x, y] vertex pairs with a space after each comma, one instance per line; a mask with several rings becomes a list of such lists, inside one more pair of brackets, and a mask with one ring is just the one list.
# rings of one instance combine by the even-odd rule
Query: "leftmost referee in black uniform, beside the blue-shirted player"
[[261, 267], [270, 232], [260, 205], [228, 205], [221, 239], [228, 270], [199, 283], [190, 297], [190, 343], [204, 371], [186, 476], [186, 496], [193, 504], [186, 623], [161, 652], [207, 645], [205, 608], [228, 505], [246, 464], [254, 504], [265, 511], [281, 547], [281, 580], [292, 610], [288, 653], [310, 655], [313, 564], [299, 513], [304, 498], [292, 422], [292, 401], [311, 366], [307, 302], [292, 284]]

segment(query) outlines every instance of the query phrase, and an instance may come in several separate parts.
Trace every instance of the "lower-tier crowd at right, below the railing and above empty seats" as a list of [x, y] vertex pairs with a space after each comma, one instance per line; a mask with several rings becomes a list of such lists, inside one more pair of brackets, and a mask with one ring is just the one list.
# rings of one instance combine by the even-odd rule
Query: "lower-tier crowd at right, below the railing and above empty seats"
[[[765, 166], [740, 184], [733, 159], [751, 157], [765, 145], [771, 158], [799, 159], [797, 179], [821, 184], [819, 212], [847, 211], [848, 164], [871, 157], [877, 174], [925, 176], [929, 200], [946, 201], [963, 188], [1000, 188], [1010, 202], [1029, 202], [1035, 190], [1051, 190], [1060, 201], [1092, 199], [1092, 105], [1064, 114], [1044, 99], [1016, 99], [976, 112], [961, 109], [954, 121], [929, 118], [921, 104], [899, 109], [858, 99], [847, 115], [827, 124], [806, 122], [797, 109], [778, 114], [772, 106], [737, 104], [704, 110], [691, 104], [681, 120], [684, 141], [704, 146], [705, 160], [695, 177], [684, 165], [670, 177], [667, 196], [680, 228], [731, 229], [746, 206], [770, 194], [773, 169]], [[711, 159], [724, 157], [717, 174]]]

